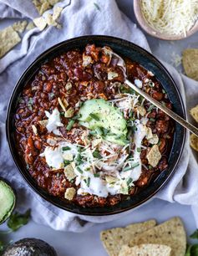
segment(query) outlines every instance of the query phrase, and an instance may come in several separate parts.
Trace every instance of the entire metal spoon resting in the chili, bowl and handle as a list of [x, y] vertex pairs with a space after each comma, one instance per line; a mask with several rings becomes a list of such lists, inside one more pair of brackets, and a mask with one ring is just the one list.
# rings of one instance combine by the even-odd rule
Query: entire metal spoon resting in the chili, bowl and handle
[[188, 121], [180, 117], [180, 115], [175, 114], [172, 110], [167, 108], [165, 105], [162, 105], [159, 101], [152, 98], [150, 95], [145, 93], [145, 91], [140, 90], [135, 84], [132, 84], [129, 79], [127, 79], [126, 74], [126, 65], [124, 63], [124, 59], [122, 59], [118, 54], [115, 54], [114, 52], [111, 52], [112, 56], [119, 59], [118, 66], [123, 69], [124, 73], [124, 84], [129, 85], [130, 88], [135, 90], [139, 95], [142, 95], [146, 100], [149, 100], [153, 105], [155, 105], [157, 108], [165, 112], [166, 115], [169, 115], [173, 120], [178, 122], [180, 125], [191, 131], [195, 134], [195, 136], [198, 136], [198, 128], [196, 128], [194, 125], [191, 125]]

